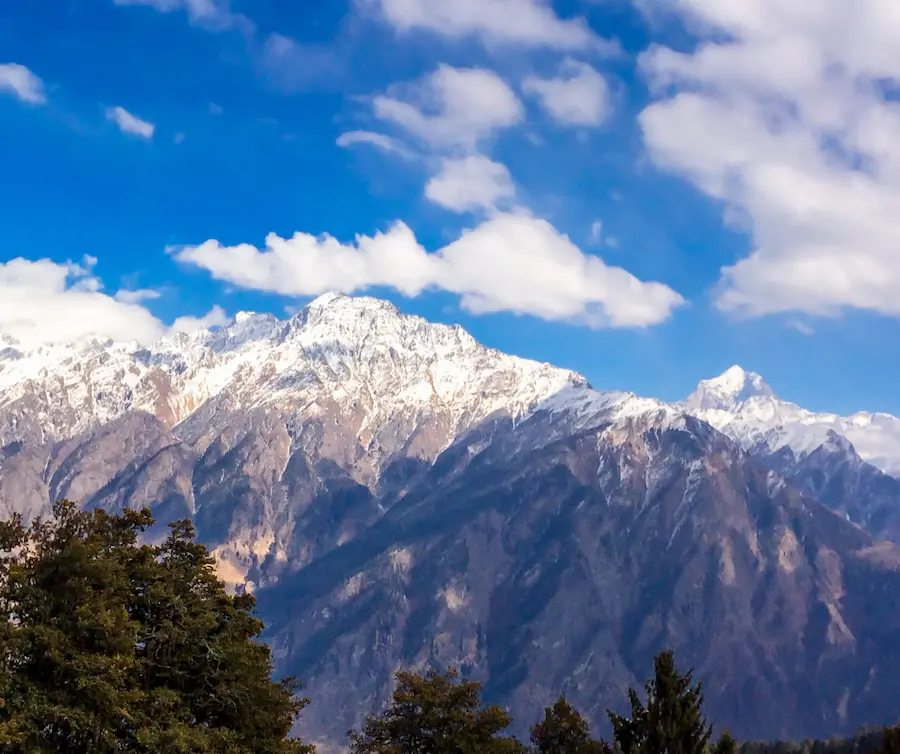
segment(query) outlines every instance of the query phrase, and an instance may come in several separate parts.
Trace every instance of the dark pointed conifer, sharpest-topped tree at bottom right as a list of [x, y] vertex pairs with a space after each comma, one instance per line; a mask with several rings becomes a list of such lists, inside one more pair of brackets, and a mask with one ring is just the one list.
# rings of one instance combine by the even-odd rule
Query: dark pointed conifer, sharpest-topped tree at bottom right
[[631, 717], [608, 712], [615, 745], [623, 754], [704, 754], [712, 733], [703, 717], [702, 684], [679, 672], [671, 651], [653, 662], [654, 676], [644, 684], [646, 706], [629, 689]]

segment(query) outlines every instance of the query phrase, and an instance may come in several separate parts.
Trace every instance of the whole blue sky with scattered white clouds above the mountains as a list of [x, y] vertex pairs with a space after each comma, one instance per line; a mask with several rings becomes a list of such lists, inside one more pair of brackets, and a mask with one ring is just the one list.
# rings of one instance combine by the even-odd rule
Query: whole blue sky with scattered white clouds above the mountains
[[898, 46], [887, 0], [0, 0], [0, 331], [338, 290], [900, 414]]

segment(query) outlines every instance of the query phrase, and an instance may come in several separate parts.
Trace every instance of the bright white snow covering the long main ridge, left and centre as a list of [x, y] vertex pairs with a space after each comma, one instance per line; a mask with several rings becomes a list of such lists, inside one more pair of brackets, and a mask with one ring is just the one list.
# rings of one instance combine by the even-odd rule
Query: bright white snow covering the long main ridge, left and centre
[[461, 327], [342, 294], [289, 320], [241, 312], [225, 327], [146, 348], [95, 340], [0, 358], [0, 409], [25, 396], [46, 402], [48, 436], [128, 410], [178, 424], [222, 399], [301, 423], [346, 411], [366, 442], [383, 427], [434, 416], [452, 439], [495, 412], [521, 417], [570, 385], [586, 380], [486, 348]]

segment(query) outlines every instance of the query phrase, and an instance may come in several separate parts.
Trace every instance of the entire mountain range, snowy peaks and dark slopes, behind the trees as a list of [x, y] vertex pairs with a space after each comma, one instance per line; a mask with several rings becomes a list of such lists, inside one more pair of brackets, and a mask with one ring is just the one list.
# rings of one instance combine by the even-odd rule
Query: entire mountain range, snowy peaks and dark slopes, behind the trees
[[598, 391], [371, 298], [150, 347], [0, 336], [0, 515], [192, 518], [326, 744], [429, 664], [520, 728], [560, 691], [601, 724], [664, 646], [740, 737], [896, 722], [898, 475], [886, 414], [739, 367]]

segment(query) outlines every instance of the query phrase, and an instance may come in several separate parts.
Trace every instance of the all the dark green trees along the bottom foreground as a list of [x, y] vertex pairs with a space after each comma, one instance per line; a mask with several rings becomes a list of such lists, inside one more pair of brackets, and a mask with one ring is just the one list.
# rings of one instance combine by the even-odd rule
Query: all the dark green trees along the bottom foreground
[[[309, 699], [273, 678], [251, 594], [232, 594], [190, 521], [142, 543], [148, 510], [61, 501], [0, 522], [0, 752], [312, 754], [293, 735]], [[737, 742], [703, 713], [671, 651], [595, 738], [565, 696], [525, 741], [453, 668], [398, 672], [392, 699], [348, 732], [351, 754], [900, 754], [900, 726], [848, 739]]]

